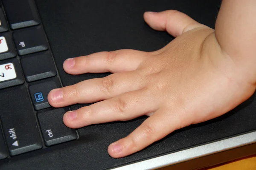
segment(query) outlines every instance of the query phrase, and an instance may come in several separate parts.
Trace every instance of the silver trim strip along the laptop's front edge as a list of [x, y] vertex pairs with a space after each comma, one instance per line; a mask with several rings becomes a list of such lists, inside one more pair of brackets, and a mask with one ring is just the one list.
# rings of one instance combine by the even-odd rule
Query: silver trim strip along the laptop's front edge
[[170, 153], [164, 156], [159, 156], [145, 161], [128, 164], [123, 167], [116, 167], [113, 170], [151, 170], [160, 167], [166, 167], [172, 164], [177, 164], [183, 161], [189, 161], [202, 156], [211, 155], [224, 150], [230, 150], [236, 147], [241, 147], [247, 144], [256, 143], [256, 131], [243, 135], [223, 139], [217, 142], [204, 144], [198, 147], [193, 147], [186, 150], [181, 150], [175, 153]]

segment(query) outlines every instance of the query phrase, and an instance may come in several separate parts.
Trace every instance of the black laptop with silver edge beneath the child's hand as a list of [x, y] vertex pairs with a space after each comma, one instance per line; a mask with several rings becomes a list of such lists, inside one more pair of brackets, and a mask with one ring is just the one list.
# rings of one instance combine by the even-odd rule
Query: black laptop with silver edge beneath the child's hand
[[145, 11], [182, 11], [214, 28], [220, 0], [1, 0], [0, 169], [197, 169], [256, 153], [255, 95], [229, 113], [169, 134], [120, 159], [107, 148], [146, 117], [70, 129], [50, 90], [104, 74], [69, 75], [65, 59], [99, 51], [155, 51], [173, 37], [143, 21]]

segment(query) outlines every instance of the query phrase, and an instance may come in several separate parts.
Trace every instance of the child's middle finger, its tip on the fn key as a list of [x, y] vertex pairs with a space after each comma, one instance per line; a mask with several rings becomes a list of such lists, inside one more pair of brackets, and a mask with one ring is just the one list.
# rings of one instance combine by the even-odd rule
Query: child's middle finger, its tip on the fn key
[[121, 72], [54, 89], [49, 92], [48, 102], [53, 107], [98, 102], [128, 91], [139, 90], [144, 84], [139, 71]]

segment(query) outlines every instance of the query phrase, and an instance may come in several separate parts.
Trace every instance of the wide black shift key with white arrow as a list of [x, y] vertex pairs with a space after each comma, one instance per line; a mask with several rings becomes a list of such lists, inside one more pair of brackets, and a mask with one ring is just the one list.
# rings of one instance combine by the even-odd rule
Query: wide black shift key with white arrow
[[25, 86], [0, 92], [0, 118], [11, 156], [42, 147], [35, 114]]

